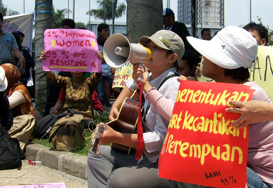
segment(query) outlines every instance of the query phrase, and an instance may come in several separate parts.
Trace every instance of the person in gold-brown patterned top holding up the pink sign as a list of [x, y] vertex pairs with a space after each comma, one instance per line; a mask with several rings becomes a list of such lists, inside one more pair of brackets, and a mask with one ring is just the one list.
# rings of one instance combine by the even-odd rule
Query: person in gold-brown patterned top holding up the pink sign
[[[42, 51], [40, 59], [46, 59], [46, 51]], [[98, 54], [101, 58], [102, 54]], [[92, 106], [92, 93], [95, 86], [100, 83], [101, 73], [93, 73], [91, 77], [84, 78], [84, 72], [70, 72], [72, 78], [56, 75], [52, 71], [46, 71], [49, 82], [63, 88], [65, 91], [65, 102], [60, 113], [65, 113], [68, 108], [79, 111], [86, 118], [94, 119]]]

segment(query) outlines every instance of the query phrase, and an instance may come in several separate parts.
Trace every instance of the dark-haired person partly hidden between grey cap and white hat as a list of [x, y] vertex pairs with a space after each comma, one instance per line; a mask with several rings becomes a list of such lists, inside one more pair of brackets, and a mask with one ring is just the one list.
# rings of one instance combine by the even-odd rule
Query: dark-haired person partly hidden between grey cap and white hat
[[185, 77], [194, 77], [197, 67], [197, 59], [192, 51], [185, 50], [184, 55], [177, 64], [177, 72]]

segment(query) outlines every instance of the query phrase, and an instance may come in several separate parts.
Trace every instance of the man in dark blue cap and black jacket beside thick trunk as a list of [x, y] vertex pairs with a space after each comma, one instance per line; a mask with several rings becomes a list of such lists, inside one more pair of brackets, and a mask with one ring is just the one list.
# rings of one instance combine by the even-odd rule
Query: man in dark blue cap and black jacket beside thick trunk
[[[167, 30], [175, 32], [183, 40], [185, 45], [185, 50], [190, 50], [196, 53], [195, 49], [189, 44], [186, 37], [191, 36], [186, 25], [182, 22], [175, 21], [174, 13], [171, 9], [163, 9], [163, 22]], [[179, 59], [180, 60], [180, 59]]]

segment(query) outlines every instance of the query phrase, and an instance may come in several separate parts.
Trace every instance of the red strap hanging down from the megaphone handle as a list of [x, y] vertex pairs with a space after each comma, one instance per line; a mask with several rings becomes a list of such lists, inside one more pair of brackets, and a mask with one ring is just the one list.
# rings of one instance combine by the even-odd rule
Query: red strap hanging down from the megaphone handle
[[137, 120], [137, 153], [136, 153], [136, 160], [141, 158], [143, 145], [144, 145], [143, 130], [142, 130], [142, 117], [141, 117], [142, 82], [138, 83], [138, 88], [139, 88], [139, 103], [140, 103], [140, 105], [139, 105], [138, 120]]

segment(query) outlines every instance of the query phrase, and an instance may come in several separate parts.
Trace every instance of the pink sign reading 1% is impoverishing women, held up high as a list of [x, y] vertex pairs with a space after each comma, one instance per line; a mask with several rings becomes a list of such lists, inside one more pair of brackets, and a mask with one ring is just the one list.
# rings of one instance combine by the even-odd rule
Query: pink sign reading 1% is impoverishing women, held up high
[[44, 45], [44, 71], [101, 71], [97, 38], [92, 31], [47, 29], [44, 32]]

